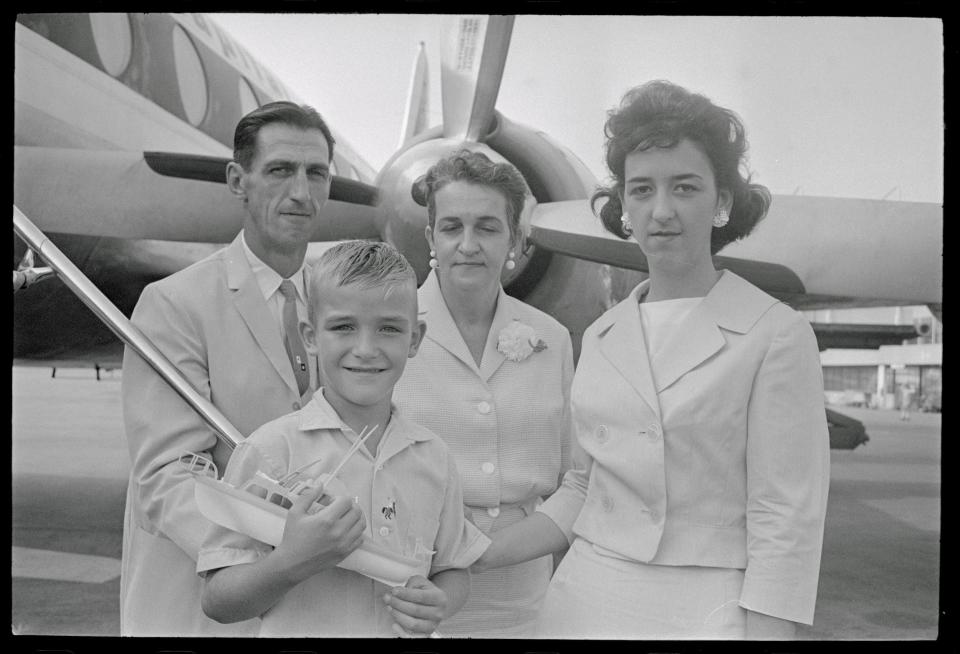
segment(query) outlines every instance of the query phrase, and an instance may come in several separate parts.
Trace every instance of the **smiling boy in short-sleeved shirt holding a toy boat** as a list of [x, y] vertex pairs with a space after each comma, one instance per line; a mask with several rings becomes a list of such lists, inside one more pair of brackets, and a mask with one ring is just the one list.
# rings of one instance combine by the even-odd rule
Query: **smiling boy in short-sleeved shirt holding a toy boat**
[[[416, 276], [392, 246], [349, 241], [317, 261], [307, 295], [300, 330], [324, 386], [238, 447], [224, 480], [240, 484], [257, 470], [280, 479], [311, 461], [305, 477], [332, 472], [364, 427], [378, 427], [337, 474], [349, 496], [319, 510], [311, 504], [320, 492], [297, 498], [276, 548], [208, 531], [197, 561], [203, 610], [218, 622], [262, 616], [261, 636], [430, 634], [465, 602], [467, 568], [489, 540], [464, 519], [446, 445], [392, 410], [393, 386], [426, 331]], [[390, 589], [336, 567], [364, 533], [419, 555], [429, 579]]]

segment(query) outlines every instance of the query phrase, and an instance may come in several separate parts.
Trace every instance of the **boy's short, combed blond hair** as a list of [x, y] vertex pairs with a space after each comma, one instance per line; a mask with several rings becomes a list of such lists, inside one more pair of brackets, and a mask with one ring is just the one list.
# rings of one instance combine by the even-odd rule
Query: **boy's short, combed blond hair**
[[[307, 271], [307, 306], [311, 318], [317, 310], [320, 284], [347, 286], [357, 284], [370, 289], [378, 286], [413, 283], [417, 273], [397, 248], [381, 241], [343, 241], [324, 252]], [[389, 293], [390, 290], [388, 289]]]

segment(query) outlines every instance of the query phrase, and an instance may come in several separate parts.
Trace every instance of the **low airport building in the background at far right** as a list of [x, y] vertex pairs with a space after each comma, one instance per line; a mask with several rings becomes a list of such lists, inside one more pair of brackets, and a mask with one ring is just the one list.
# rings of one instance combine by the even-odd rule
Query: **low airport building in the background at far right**
[[862, 325], [912, 327], [916, 336], [899, 345], [825, 349], [820, 352], [826, 401], [834, 405], [940, 411], [943, 378], [943, 323], [926, 306], [805, 311], [814, 328]]

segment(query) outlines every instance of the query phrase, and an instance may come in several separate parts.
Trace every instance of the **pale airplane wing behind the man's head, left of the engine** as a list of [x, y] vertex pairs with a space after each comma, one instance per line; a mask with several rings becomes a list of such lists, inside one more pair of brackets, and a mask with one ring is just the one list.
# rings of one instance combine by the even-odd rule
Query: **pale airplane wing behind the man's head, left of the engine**
[[[45, 232], [227, 243], [245, 217], [222, 158], [15, 146], [14, 161], [14, 203]], [[330, 195], [312, 240], [379, 237], [374, 187], [335, 177]]]

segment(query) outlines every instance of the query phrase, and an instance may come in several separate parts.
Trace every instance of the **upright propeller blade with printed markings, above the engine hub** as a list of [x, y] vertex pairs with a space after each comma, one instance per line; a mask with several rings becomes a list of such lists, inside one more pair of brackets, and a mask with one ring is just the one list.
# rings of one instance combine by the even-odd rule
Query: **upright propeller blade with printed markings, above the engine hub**
[[440, 62], [443, 136], [477, 142], [494, 118], [513, 16], [446, 19]]

